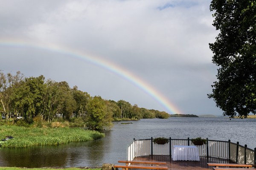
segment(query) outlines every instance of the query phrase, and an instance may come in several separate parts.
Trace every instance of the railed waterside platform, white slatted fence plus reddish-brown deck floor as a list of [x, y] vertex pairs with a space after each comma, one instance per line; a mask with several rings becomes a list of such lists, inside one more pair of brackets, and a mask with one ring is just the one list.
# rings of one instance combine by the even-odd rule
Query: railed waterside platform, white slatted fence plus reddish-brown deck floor
[[173, 161], [174, 145], [193, 145], [191, 139], [172, 139], [166, 144], [154, 144], [153, 138], [135, 140], [127, 148], [127, 160], [166, 161], [171, 170], [212, 170], [207, 163], [256, 164], [256, 148], [241, 146], [239, 142], [216, 141], [197, 146], [200, 161]]

